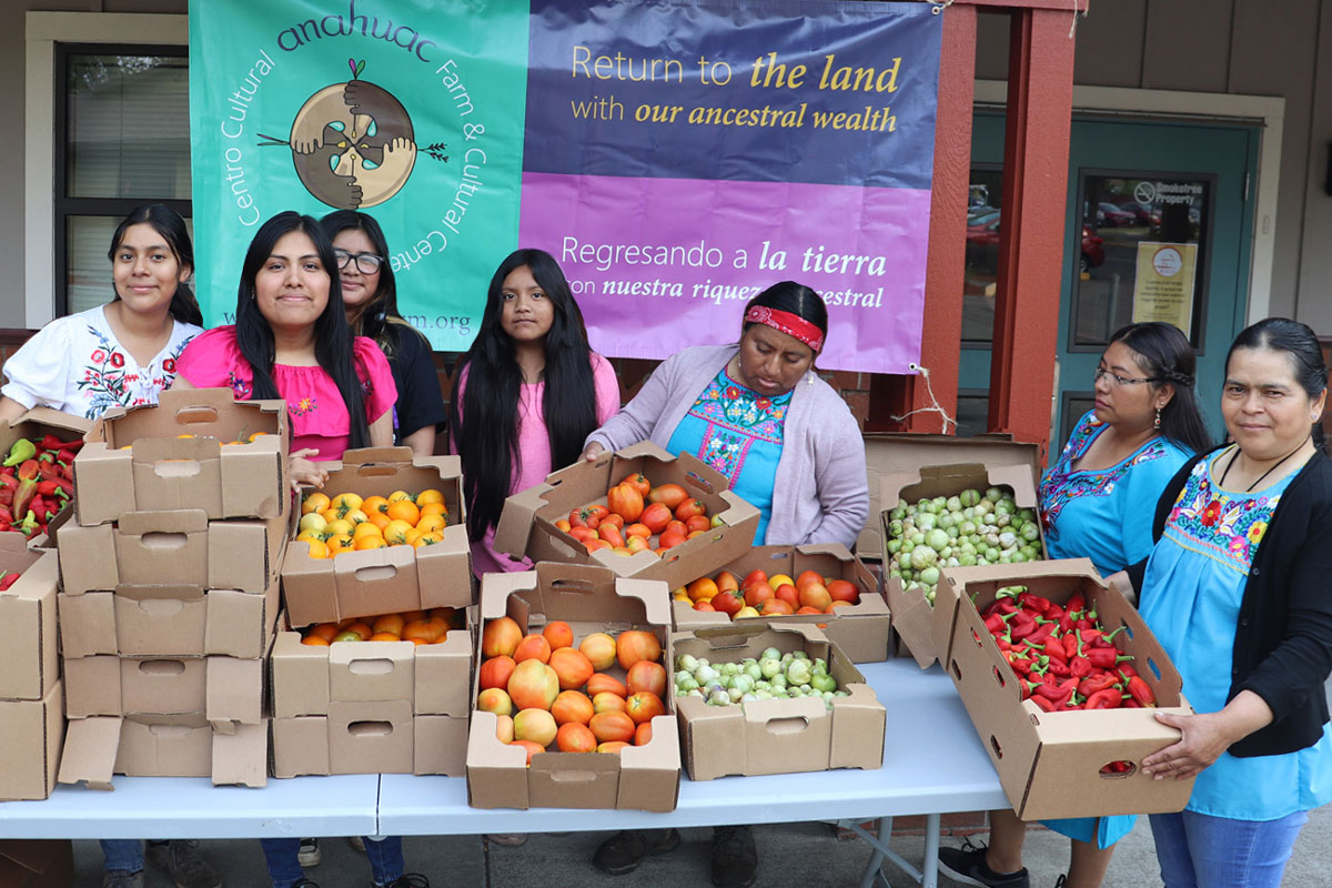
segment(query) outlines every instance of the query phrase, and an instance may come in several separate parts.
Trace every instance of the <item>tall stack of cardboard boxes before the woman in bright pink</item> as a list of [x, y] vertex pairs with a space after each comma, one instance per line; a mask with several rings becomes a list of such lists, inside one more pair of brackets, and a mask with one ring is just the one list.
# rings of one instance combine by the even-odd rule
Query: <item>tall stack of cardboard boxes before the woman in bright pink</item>
[[56, 530], [61, 783], [268, 775], [265, 658], [292, 521], [286, 411], [225, 389], [108, 413]]

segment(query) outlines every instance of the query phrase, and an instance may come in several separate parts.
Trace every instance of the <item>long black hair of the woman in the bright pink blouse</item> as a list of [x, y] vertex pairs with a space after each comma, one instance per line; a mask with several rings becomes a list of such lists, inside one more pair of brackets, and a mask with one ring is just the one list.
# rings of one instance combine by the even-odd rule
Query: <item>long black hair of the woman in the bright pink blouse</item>
[[[264, 262], [273, 254], [273, 248], [285, 234], [301, 232], [314, 242], [320, 264], [329, 276], [329, 300], [324, 313], [314, 321], [314, 358], [320, 367], [333, 379], [342, 401], [346, 403], [350, 429], [349, 447], [365, 447], [370, 443], [370, 426], [365, 419], [365, 398], [361, 379], [356, 374], [352, 355], [352, 330], [346, 325], [342, 308], [342, 285], [338, 282], [337, 261], [333, 258], [333, 242], [314, 221], [313, 216], [301, 216], [293, 210], [278, 213], [264, 222], [241, 265], [241, 284], [236, 294], [236, 343], [249, 361], [254, 374], [252, 398], [281, 398], [273, 382], [273, 361], [276, 349], [273, 330], [258, 309], [254, 280]], [[294, 257], [293, 257], [294, 258]]]

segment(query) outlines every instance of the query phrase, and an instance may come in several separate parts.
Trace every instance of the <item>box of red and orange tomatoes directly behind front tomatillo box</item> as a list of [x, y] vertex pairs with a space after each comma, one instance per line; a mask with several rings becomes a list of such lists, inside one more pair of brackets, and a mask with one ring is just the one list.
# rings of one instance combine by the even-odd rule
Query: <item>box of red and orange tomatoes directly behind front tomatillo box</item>
[[888, 655], [888, 604], [874, 574], [840, 543], [755, 546], [674, 590], [677, 631], [730, 623], [813, 623], [852, 663]]

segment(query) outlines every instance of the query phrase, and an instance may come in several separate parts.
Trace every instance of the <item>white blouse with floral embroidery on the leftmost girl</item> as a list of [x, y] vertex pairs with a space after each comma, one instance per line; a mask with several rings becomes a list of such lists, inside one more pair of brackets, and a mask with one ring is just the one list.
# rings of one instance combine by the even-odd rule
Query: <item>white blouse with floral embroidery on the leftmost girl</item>
[[157, 403], [176, 379], [176, 358], [201, 328], [172, 321], [170, 338], [140, 366], [116, 339], [101, 305], [56, 318], [4, 363], [0, 394], [29, 410], [52, 407], [96, 419], [111, 407]]

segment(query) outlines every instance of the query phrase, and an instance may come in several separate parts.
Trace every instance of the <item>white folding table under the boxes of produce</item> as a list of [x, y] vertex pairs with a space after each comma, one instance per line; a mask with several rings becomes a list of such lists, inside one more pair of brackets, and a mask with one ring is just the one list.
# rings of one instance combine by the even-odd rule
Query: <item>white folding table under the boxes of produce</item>
[[[862, 663], [888, 711], [883, 767], [681, 780], [669, 813], [468, 807], [462, 777], [401, 774], [270, 779], [262, 789], [204, 777], [116, 777], [113, 792], [59, 787], [45, 801], [0, 804], [5, 839], [241, 839], [265, 836], [477, 835], [561, 829], [842, 821], [871, 843], [863, 884], [884, 857], [926, 888], [936, 880], [939, 815], [1007, 807], [999, 777], [952, 683], [912, 660]], [[814, 816], [811, 816], [814, 815]], [[888, 849], [892, 817], [926, 815], [923, 871]], [[858, 824], [882, 819], [875, 836]]]

